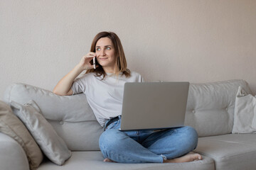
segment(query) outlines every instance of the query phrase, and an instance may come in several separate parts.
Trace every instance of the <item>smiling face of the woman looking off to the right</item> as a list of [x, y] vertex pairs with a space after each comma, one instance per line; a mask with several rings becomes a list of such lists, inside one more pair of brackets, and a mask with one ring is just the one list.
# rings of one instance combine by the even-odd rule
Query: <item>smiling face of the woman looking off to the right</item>
[[100, 38], [95, 48], [97, 62], [102, 65], [105, 72], [114, 72], [115, 56], [112, 40], [110, 38]]

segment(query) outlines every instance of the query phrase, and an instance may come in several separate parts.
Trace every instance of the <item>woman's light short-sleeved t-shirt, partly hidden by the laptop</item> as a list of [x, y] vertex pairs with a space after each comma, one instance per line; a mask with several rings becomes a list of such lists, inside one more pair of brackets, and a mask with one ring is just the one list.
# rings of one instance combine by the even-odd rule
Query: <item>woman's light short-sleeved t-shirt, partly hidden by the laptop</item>
[[119, 77], [107, 73], [105, 79], [95, 77], [95, 73], [88, 73], [75, 79], [71, 89], [74, 94], [84, 93], [92, 108], [97, 121], [102, 125], [110, 118], [122, 114], [122, 100], [124, 84], [126, 82], [143, 82], [142, 76], [137, 72], [131, 72], [131, 77], [125, 77], [122, 73]]

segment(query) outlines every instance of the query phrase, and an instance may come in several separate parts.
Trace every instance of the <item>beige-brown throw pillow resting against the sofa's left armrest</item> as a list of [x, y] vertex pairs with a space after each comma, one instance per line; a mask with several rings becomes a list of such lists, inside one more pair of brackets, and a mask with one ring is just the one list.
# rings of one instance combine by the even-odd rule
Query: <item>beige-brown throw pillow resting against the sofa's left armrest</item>
[[9, 135], [24, 149], [30, 169], [37, 169], [43, 160], [41, 149], [8, 104], [0, 101], [0, 132]]

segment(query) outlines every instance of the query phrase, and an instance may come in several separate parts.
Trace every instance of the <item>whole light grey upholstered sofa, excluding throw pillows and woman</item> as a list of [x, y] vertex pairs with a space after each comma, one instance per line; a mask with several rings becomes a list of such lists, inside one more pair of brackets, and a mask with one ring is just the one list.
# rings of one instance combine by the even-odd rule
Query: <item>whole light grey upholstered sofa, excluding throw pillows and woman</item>
[[[238, 86], [250, 93], [246, 81], [230, 80], [207, 84], [191, 84], [188, 93], [186, 125], [199, 135], [194, 152], [203, 160], [176, 164], [117, 164], [102, 162], [98, 139], [103, 132], [84, 94], [57, 96], [51, 91], [26, 84], [11, 84], [4, 101], [26, 103], [36, 101], [55, 131], [72, 150], [63, 166], [44, 159], [43, 169], [256, 169], [256, 135], [231, 134], [235, 94]], [[11, 137], [0, 132], [0, 169], [28, 170], [25, 152]]]

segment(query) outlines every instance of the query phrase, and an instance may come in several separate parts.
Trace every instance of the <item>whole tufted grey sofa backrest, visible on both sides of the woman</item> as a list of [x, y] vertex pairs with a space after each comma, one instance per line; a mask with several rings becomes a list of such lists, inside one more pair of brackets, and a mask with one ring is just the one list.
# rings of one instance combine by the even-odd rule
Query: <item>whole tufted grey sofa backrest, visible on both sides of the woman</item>
[[[195, 128], [199, 137], [230, 133], [238, 86], [250, 93], [247, 82], [243, 80], [191, 84], [185, 125]], [[58, 96], [27, 84], [11, 84], [4, 94], [6, 103], [16, 101], [24, 104], [30, 100], [38, 104], [44, 117], [69, 149], [99, 150], [98, 139], [103, 130], [97, 123], [85, 94]]]

